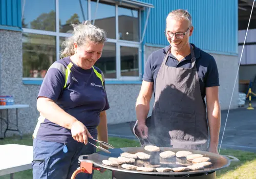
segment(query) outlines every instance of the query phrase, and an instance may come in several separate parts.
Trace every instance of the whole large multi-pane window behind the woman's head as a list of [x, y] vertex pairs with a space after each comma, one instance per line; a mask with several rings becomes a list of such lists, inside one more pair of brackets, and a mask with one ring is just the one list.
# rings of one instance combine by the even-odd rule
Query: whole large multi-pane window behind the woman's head
[[72, 34], [71, 24], [91, 20], [106, 31], [101, 58], [95, 66], [106, 80], [139, 80], [140, 10], [116, 1], [22, 0], [23, 78], [42, 79], [60, 59], [61, 44]]

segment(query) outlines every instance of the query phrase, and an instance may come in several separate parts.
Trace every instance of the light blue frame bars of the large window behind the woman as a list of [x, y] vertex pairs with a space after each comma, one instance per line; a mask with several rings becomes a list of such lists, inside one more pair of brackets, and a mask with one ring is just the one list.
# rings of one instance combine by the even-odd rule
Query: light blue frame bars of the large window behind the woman
[[[33, 34], [41, 34], [41, 35], [50, 35], [50, 36], [55, 36], [56, 37], [56, 60], [60, 59], [59, 52], [60, 52], [60, 44], [59, 44], [59, 39], [60, 37], [70, 37], [72, 34], [70, 33], [63, 33], [59, 32], [59, 1], [60, 0], [55, 0], [55, 21], [56, 21], [56, 31], [44, 31], [44, 30], [36, 30], [36, 29], [29, 29], [29, 28], [23, 28], [23, 33], [33, 33]], [[88, 0], [88, 6], [87, 6], [87, 13], [88, 13], [88, 20], [93, 21], [92, 15], [91, 15], [91, 0]], [[99, 2], [101, 3], [101, 2]], [[114, 0], [105, 0], [105, 3], [115, 3]], [[115, 3], [115, 28], [116, 28], [116, 38], [111, 39], [108, 38], [107, 42], [112, 42], [116, 43], [116, 78], [106, 78], [106, 81], [141, 81], [142, 78], [142, 47], [141, 47], [141, 8], [129, 4], [122, 4], [122, 8], [133, 8], [138, 10], [138, 20], [139, 20], [139, 41], [129, 41], [129, 40], [119, 40], [119, 29], [118, 29], [118, 4]], [[97, 17], [97, 14], [96, 14]], [[133, 77], [133, 76], [121, 76], [121, 66], [120, 66], [120, 47], [133, 47], [133, 48], [138, 48], [138, 62], [139, 62], [139, 76]], [[23, 80], [26, 81], [38, 81], [38, 80], [43, 80], [44, 78], [26, 78], [23, 77]]]

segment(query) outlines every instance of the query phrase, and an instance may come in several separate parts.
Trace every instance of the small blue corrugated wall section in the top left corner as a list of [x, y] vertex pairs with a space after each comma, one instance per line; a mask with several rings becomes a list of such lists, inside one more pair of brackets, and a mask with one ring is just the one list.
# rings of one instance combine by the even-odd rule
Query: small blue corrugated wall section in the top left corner
[[22, 2], [21, 0], [0, 0], [0, 29], [22, 29]]

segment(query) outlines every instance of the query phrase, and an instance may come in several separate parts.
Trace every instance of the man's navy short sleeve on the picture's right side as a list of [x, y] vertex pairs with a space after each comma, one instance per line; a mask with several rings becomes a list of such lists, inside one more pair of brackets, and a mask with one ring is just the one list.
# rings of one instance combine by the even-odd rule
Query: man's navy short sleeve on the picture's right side
[[206, 81], [205, 87], [219, 86], [219, 72], [216, 61], [214, 57], [210, 59], [207, 72], [206, 72]]

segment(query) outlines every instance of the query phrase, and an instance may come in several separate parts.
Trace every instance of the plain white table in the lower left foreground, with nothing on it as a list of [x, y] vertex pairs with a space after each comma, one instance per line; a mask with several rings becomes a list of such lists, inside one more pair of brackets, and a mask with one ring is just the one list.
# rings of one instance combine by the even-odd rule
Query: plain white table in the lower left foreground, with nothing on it
[[18, 144], [0, 145], [0, 176], [32, 168], [33, 147]]

